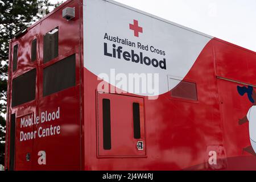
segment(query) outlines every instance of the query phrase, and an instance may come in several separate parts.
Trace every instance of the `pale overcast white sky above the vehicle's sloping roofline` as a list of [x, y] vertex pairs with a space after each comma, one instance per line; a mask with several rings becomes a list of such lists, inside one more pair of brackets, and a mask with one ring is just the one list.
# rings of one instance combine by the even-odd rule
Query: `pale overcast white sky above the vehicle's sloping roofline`
[[255, 0], [115, 1], [256, 52]]

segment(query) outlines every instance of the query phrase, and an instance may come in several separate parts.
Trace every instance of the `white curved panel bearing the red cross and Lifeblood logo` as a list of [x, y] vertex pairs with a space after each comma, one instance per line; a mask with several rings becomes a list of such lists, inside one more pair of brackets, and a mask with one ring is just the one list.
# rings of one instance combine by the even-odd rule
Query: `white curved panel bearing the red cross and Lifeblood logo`
[[159, 74], [159, 81], [153, 79], [159, 92], [154, 93], [138, 93], [119, 86], [118, 81], [110, 82], [142, 96], [157, 96], [174, 88], [168, 86], [167, 75], [182, 80], [212, 39], [112, 1], [84, 0], [83, 7], [84, 67], [97, 76], [106, 73], [109, 79], [103, 79], [107, 82], [111, 69], [127, 79], [131, 73]]

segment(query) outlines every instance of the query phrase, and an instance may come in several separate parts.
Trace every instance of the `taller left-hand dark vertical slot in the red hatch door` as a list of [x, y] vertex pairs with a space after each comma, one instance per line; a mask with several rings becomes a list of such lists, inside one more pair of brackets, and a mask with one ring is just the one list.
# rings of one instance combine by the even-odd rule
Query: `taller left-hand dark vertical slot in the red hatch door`
[[110, 126], [110, 100], [102, 100], [103, 111], [103, 148], [111, 149], [111, 126]]

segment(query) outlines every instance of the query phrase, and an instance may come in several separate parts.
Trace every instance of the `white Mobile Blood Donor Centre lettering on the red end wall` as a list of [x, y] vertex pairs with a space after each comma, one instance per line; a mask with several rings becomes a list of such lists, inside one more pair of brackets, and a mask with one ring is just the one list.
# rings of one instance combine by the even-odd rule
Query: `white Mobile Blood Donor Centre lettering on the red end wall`
[[50, 123], [48, 127], [39, 126], [37, 130], [31, 132], [20, 131], [19, 141], [26, 141], [36, 138], [49, 137], [53, 135], [60, 134], [60, 125], [56, 125], [55, 122], [60, 119], [60, 107], [57, 107], [55, 111], [43, 111], [36, 117], [31, 115], [26, 115], [20, 118], [20, 130], [24, 130], [26, 127], [31, 127], [33, 125], [39, 125], [40, 123]]

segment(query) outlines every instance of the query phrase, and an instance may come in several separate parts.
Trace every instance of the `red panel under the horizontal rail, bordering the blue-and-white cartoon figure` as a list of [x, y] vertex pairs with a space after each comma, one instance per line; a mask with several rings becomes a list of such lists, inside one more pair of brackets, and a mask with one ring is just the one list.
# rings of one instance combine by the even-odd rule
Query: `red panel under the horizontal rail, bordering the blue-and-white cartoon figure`
[[223, 125], [224, 146], [229, 157], [250, 155], [243, 148], [250, 146], [248, 122], [239, 125], [238, 121], [245, 117], [251, 103], [237, 92], [236, 82], [218, 79], [221, 119]]

